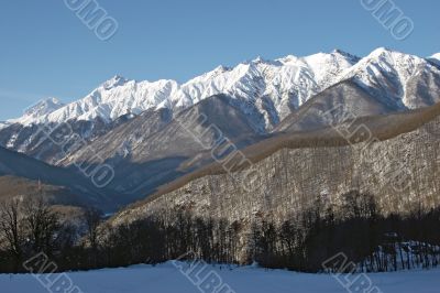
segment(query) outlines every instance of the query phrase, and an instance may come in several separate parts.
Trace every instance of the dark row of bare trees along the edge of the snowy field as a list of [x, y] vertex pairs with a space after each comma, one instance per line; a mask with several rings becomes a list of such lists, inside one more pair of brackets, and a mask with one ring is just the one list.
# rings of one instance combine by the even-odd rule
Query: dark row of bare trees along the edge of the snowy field
[[338, 253], [364, 272], [438, 265], [439, 208], [383, 216], [372, 195], [353, 191], [342, 199], [336, 206], [318, 196], [283, 223], [261, 215], [230, 223], [176, 208], [110, 226], [97, 209], [85, 209], [73, 225], [42, 198], [15, 198], [0, 205], [0, 272], [25, 272], [22, 263], [40, 252], [59, 271], [155, 264], [188, 252], [211, 263], [304, 272], [323, 271]]

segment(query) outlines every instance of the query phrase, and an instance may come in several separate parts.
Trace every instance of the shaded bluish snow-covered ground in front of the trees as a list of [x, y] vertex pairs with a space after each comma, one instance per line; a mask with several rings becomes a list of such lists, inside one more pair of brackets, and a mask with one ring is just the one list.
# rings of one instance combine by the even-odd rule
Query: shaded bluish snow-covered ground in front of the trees
[[[182, 265], [182, 264], [179, 264]], [[183, 268], [186, 271], [187, 268]], [[220, 276], [213, 283], [223, 285], [219, 293], [284, 293], [284, 292], [364, 292], [344, 289], [331, 275], [305, 274], [282, 270], [264, 270], [257, 268], [228, 269], [224, 265], [216, 268], [209, 265], [195, 269], [188, 273], [188, 278], [196, 280], [198, 276]], [[90, 272], [69, 273], [76, 291], [73, 293], [193, 293], [193, 292], [216, 292], [205, 282], [200, 285], [194, 284], [178, 268], [168, 262], [165, 264], [134, 265], [127, 269], [106, 269]], [[186, 271], [187, 272], [187, 271]], [[213, 273], [215, 272], [215, 273]], [[217, 273], [217, 274], [216, 274]], [[47, 276], [47, 275], [45, 275]], [[61, 275], [57, 275], [61, 276]], [[345, 276], [345, 275], [343, 275]], [[360, 275], [358, 275], [360, 276]], [[55, 280], [54, 276], [50, 276]], [[431, 271], [404, 271], [396, 273], [370, 274], [372, 287], [383, 293], [438, 293], [440, 287], [440, 270]], [[212, 280], [213, 280], [212, 279]], [[46, 293], [65, 292], [55, 284], [44, 287], [38, 280], [31, 274], [9, 275], [0, 274], [0, 292], [2, 293]], [[352, 279], [354, 280], [354, 279]], [[233, 291], [228, 291], [228, 290]], [[51, 291], [52, 290], [52, 291]], [[80, 291], [79, 291], [80, 290]], [[358, 289], [359, 290], [359, 289]], [[69, 292], [69, 291], [67, 291]], [[369, 291], [365, 291], [369, 292]]]

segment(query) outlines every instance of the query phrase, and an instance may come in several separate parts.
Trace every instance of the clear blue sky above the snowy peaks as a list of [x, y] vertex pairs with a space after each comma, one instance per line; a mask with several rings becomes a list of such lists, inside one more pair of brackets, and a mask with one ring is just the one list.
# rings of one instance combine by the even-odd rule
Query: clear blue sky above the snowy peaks
[[3, 0], [0, 8], [0, 120], [41, 98], [72, 101], [116, 74], [185, 82], [256, 56], [333, 48], [363, 56], [386, 46], [440, 52], [440, 1], [394, 0], [415, 23], [396, 41], [361, 0], [98, 0], [119, 30], [100, 41], [64, 0]]

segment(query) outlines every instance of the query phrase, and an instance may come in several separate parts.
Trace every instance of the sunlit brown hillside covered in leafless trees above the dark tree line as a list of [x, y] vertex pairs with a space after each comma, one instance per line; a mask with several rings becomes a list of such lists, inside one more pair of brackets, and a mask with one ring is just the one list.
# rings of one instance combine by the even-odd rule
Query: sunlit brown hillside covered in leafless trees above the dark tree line
[[[398, 129], [405, 120], [392, 118], [383, 123], [388, 130]], [[374, 133], [381, 132], [377, 129], [383, 129], [375, 121], [373, 137], [364, 142], [282, 148], [254, 163], [251, 176], [246, 170], [201, 176], [129, 207], [113, 223], [176, 207], [231, 221], [254, 217], [280, 220], [312, 205], [318, 196], [338, 205], [341, 195], [353, 189], [373, 194], [384, 214], [407, 213], [419, 205], [438, 206], [440, 117], [409, 132], [394, 137], [388, 133], [393, 138], [386, 140], [382, 140], [383, 134], [381, 140], [374, 138]], [[250, 188], [243, 188], [241, 182]]]

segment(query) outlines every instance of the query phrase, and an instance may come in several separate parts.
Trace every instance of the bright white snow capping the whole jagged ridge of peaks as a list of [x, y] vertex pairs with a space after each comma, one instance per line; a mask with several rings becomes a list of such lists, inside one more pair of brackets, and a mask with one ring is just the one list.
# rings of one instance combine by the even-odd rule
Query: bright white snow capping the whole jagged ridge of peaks
[[[426, 64], [424, 58], [382, 47], [362, 59], [341, 50], [305, 57], [288, 55], [274, 61], [257, 57], [234, 67], [218, 66], [184, 84], [170, 79], [135, 82], [117, 75], [82, 99], [31, 118], [25, 115], [15, 121], [28, 124], [101, 118], [110, 122], [128, 112], [183, 109], [210, 96], [226, 94], [245, 112], [251, 113], [251, 108], [256, 108], [264, 117], [264, 121], [257, 123], [266, 128], [338, 82], [355, 78], [369, 87], [384, 83], [381, 76], [392, 75], [397, 86], [420, 66], [428, 66]], [[404, 89], [400, 91], [397, 96], [403, 98]]]

